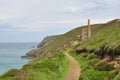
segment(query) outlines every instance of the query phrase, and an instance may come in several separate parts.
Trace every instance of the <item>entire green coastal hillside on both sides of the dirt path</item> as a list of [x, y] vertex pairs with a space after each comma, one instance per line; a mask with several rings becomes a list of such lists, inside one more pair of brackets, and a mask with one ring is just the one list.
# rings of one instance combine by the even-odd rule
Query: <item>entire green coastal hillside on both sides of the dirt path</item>
[[81, 65], [80, 80], [119, 80], [120, 21], [91, 25], [92, 37], [82, 41], [79, 36], [84, 27], [46, 37], [37, 49], [27, 53], [35, 56], [31, 62], [6, 72], [0, 80], [61, 80], [69, 64], [66, 48]]

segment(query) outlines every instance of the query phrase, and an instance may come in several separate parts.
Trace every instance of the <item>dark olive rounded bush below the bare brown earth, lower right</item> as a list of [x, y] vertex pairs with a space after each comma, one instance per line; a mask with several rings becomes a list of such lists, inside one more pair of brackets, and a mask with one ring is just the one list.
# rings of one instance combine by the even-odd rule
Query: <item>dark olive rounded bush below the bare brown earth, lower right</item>
[[111, 71], [114, 69], [114, 64], [109, 64], [105, 61], [99, 62], [94, 66], [94, 69], [100, 71]]

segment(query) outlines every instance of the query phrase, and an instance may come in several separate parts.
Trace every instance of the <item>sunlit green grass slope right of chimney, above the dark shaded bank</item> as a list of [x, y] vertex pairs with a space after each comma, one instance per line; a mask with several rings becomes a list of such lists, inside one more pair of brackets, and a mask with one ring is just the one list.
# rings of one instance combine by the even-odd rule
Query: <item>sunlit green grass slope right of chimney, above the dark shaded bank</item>
[[114, 48], [118, 43], [120, 43], [120, 22], [104, 25], [103, 30], [82, 41], [78, 48], [97, 49], [104, 45]]

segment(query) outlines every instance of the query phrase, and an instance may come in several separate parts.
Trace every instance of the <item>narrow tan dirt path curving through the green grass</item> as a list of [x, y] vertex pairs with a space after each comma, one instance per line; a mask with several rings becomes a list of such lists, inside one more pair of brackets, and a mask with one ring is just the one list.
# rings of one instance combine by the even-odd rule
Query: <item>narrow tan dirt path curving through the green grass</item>
[[67, 52], [65, 55], [68, 57], [70, 61], [70, 65], [69, 65], [68, 74], [65, 76], [63, 80], [79, 80], [79, 76], [80, 76], [79, 63], [72, 56], [70, 56]]

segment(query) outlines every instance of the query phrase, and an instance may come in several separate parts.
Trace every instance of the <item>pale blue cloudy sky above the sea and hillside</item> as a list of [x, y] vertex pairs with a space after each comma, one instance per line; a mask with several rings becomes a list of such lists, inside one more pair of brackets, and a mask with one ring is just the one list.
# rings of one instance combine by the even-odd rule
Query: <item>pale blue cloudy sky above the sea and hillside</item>
[[120, 0], [0, 0], [0, 42], [40, 42], [120, 18]]

